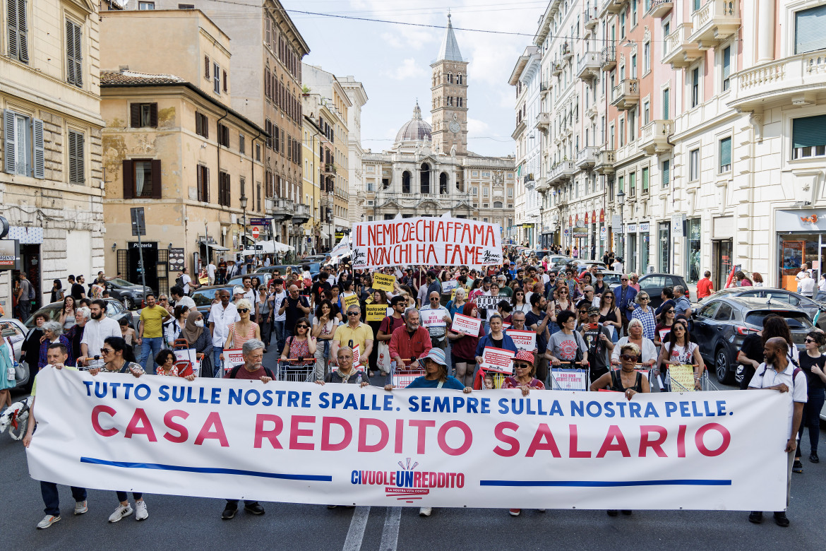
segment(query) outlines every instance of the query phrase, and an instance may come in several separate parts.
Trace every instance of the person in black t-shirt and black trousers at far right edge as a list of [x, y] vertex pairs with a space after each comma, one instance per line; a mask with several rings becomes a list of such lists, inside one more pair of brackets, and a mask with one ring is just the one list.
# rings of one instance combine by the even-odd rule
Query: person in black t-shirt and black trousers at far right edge
[[804, 426], [809, 427], [809, 461], [819, 463], [820, 410], [826, 399], [826, 356], [820, 354], [820, 347], [826, 344], [826, 335], [819, 330], [809, 331], [805, 342], [806, 352], [800, 354], [800, 369], [806, 374], [809, 400], [803, 406], [803, 422], [800, 423], [795, 463], [800, 461], [800, 440], [803, 439]]

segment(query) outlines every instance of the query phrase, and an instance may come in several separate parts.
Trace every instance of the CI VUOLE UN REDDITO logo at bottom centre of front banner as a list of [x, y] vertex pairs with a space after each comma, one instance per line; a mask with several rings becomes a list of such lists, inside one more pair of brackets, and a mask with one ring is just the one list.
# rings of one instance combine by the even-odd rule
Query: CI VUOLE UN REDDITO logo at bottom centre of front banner
[[370, 486], [384, 486], [387, 497], [413, 503], [430, 493], [431, 488], [462, 488], [464, 473], [436, 473], [416, 470], [419, 463], [411, 458], [398, 462], [396, 471], [353, 471], [350, 482]]

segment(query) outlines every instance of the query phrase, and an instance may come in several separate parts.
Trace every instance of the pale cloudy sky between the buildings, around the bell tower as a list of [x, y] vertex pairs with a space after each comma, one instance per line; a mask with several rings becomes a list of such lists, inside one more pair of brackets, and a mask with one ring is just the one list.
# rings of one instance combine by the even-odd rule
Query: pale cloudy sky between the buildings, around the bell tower
[[[444, 29], [300, 12], [445, 26], [450, 9], [455, 28], [533, 36], [547, 5], [547, 0], [282, 0], [310, 46], [305, 63], [337, 76], [353, 75], [363, 83], [369, 100], [362, 111], [362, 145], [373, 151], [392, 145], [399, 127], [410, 120], [416, 99], [423, 118], [430, 121], [430, 64], [439, 52]], [[477, 154], [513, 154], [515, 91], [507, 81], [531, 37], [455, 34], [463, 58], [470, 62], [468, 149]]]

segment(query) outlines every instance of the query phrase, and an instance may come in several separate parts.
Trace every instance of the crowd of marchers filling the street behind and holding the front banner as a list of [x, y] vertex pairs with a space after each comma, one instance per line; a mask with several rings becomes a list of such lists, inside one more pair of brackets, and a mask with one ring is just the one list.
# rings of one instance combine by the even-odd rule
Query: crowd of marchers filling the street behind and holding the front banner
[[[26, 357], [31, 354], [41, 366], [89, 367], [93, 375], [105, 371], [135, 377], [178, 376], [181, 373], [174, 368], [169, 349], [183, 340], [196, 349], [201, 377], [264, 383], [278, 379], [278, 365], [265, 366], [263, 361], [263, 354], [275, 346], [281, 362], [299, 360], [309, 365], [309, 381], [373, 385], [391, 392], [395, 387], [392, 375], [402, 370], [418, 375], [408, 388], [461, 392], [517, 388], [527, 395], [553, 388], [554, 369], [577, 368], [586, 370], [591, 391], [623, 392], [631, 400], [655, 388], [670, 392], [667, 373], [673, 365], [692, 366], [695, 388], [700, 389], [705, 363], [691, 335], [687, 290], [663, 288], [662, 305], [653, 308], [636, 274], [622, 275], [619, 285], [611, 288], [596, 266], [577, 266], [554, 269], [540, 260], [512, 254], [503, 264], [485, 268], [354, 270], [345, 261], [323, 265], [313, 278], [304, 278], [303, 273], [282, 276], [275, 271], [265, 284], [264, 278], [248, 274], [231, 292], [226, 288], [216, 292], [207, 316], [190, 304], [192, 299], [182, 287], [171, 290], [174, 304], [164, 296], [159, 302], [148, 296], [137, 330], [111, 320], [107, 323], [100, 299], [76, 302], [66, 297], [59, 322], [38, 321], [41, 334], [26, 340], [33, 347], [26, 347]], [[373, 286], [377, 274], [392, 276], [392, 291]], [[383, 306], [378, 315], [376, 306]], [[475, 318], [479, 330], [454, 329], [453, 320], [459, 315]], [[807, 354], [799, 358], [785, 324], [783, 318], [771, 316], [762, 333], [749, 335], [742, 358], [738, 357], [751, 368], [743, 387], [792, 393], [786, 451], [791, 454], [797, 449], [796, 435], [799, 430], [802, 435], [805, 426], [809, 460], [817, 462], [817, 420], [826, 388], [826, 357], [819, 348], [826, 344], [826, 335], [809, 334]], [[535, 348], [517, 347], [509, 329], [534, 331]], [[140, 346], [137, 361], [133, 345]], [[510, 373], [488, 369], [483, 358], [488, 347], [514, 354]], [[241, 350], [244, 363], [230, 369], [225, 353], [235, 349]], [[157, 370], [152, 360], [159, 365]], [[35, 423], [32, 411], [26, 445]], [[793, 461], [795, 470], [802, 470], [800, 458]], [[46, 516], [39, 527], [47, 528], [59, 520], [59, 510], [56, 492], [50, 483], [43, 485]], [[76, 514], [86, 511], [85, 499], [79, 499], [85, 496], [82, 490], [73, 489]], [[133, 497], [134, 509], [126, 493], [118, 492], [120, 505], [110, 516], [111, 522], [133, 512], [137, 520], [146, 518], [143, 497]], [[238, 501], [228, 499], [222, 518], [231, 519], [237, 508]], [[254, 515], [264, 512], [257, 502], [245, 502], [244, 510]], [[425, 516], [431, 512], [429, 507], [420, 510]], [[749, 520], [761, 518], [752, 513]], [[775, 520], [779, 525], [789, 522], [783, 511], [775, 513]]]

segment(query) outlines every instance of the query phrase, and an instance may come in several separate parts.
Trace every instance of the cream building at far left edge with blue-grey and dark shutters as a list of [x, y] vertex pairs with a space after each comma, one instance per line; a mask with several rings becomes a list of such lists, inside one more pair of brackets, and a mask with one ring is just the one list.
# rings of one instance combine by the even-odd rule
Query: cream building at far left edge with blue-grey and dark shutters
[[35, 311], [53, 279], [103, 268], [99, 26], [92, 2], [0, 3], [0, 215], [19, 247], [0, 271], [7, 316], [21, 272]]

